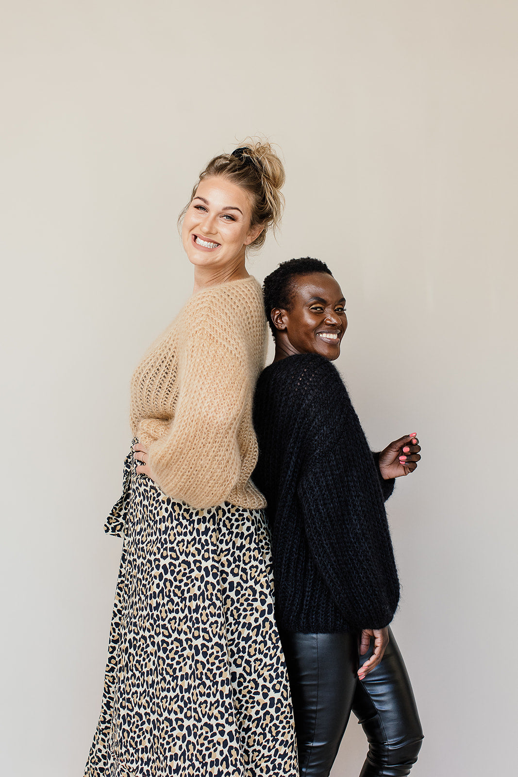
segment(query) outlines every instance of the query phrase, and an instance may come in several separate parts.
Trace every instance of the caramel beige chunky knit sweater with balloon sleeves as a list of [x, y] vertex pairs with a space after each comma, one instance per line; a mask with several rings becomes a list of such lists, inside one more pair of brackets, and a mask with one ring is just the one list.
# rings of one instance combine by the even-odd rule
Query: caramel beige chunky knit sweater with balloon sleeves
[[266, 357], [262, 291], [250, 276], [189, 298], [131, 382], [131, 428], [160, 489], [202, 509], [264, 507], [252, 399]]

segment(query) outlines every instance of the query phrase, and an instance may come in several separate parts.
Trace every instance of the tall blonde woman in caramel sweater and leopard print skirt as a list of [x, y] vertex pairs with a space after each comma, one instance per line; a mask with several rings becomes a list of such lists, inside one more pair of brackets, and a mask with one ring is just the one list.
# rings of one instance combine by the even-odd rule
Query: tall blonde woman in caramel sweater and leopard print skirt
[[252, 396], [266, 348], [245, 267], [279, 224], [267, 142], [218, 155], [183, 214], [194, 291], [134, 372], [133, 453], [106, 531], [123, 534], [103, 707], [86, 777], [297, 775], [273, 617]]

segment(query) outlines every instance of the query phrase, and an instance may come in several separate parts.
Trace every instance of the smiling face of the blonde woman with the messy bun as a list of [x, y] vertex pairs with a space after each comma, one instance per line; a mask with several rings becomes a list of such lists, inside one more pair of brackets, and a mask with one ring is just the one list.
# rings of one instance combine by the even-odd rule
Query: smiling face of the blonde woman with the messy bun
[[182, 226], [189, 262], [224, 270], [245, 262], [245, 249], [262, 227], [250, 228], [249, 194], [221, 176], [200, 181]]

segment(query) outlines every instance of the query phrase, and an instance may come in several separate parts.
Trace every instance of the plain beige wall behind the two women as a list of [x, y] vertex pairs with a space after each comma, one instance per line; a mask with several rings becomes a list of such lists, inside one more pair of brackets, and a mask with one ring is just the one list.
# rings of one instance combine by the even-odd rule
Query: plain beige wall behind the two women
[[[197, 172], [258, 131], [287, 208], [252, 272], [327, 261], [371, 446], [422, 440], [389, 503], [412, 774], [512, 771], [517, 22], [504, 0], [4, 5], [3, 775], [82, 775], [130, 373], [190, 293], [176, 215]], [[365, 751], [352, 721], [333, 775]]]

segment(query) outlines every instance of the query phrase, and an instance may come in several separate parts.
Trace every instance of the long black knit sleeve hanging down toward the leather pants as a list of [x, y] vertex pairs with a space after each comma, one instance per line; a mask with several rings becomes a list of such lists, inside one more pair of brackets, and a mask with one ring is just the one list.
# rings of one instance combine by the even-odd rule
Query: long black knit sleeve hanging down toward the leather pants
[[399, 584], [379, 478], [338, 372], [322, 363], [312, 383], [309, 455], [297, 493], [304, 531], [346, 621], [380, 629], [394, 616]]

